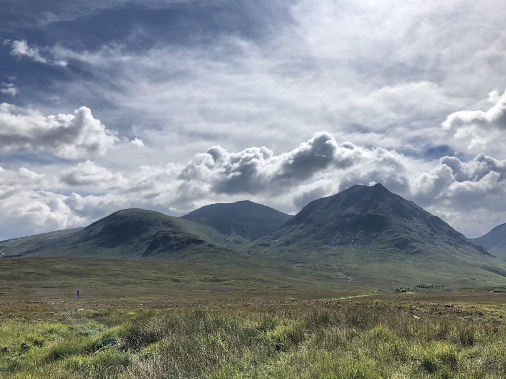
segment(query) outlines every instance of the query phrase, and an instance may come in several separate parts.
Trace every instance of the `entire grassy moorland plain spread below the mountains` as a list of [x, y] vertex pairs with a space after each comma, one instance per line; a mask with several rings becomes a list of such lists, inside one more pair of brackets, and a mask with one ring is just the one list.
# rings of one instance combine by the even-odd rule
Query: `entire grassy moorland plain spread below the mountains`
[[267, 265], [2, 259], [0, 377], [503, 378], [506, 289], [474, 282], [379, 292]]

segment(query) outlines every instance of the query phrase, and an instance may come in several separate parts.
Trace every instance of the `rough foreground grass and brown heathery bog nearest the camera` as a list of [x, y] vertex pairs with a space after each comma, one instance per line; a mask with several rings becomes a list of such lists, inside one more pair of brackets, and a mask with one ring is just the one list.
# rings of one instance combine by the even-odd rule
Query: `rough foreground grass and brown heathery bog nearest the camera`
[[0, 304], [0, 376], [506, 377], [504, 294], [377, 296], [6, 301]]

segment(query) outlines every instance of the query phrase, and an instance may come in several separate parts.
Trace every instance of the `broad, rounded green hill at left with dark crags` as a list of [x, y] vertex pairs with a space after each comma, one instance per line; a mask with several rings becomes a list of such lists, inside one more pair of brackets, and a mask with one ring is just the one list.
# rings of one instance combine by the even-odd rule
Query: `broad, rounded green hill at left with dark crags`
[[[0, 242], [4, 257], [206, 260], [248, 259], [221, 246], [226, 237], [203, 223], [144, 209], [124, 209], [85, 228], [60, 230]], [[207, 258], [206, 258], [207, 257]]]

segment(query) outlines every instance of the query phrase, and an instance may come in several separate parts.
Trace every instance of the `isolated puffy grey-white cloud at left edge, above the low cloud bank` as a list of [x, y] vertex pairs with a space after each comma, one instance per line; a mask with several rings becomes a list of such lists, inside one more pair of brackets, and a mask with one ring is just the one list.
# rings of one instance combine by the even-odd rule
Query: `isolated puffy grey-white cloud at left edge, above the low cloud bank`
[[80, 107], [74, 114], [44, 116], [40, 112], [0, 104], [0, 149], [50, 150], [65, 159], [101, 155], [117, 137]]

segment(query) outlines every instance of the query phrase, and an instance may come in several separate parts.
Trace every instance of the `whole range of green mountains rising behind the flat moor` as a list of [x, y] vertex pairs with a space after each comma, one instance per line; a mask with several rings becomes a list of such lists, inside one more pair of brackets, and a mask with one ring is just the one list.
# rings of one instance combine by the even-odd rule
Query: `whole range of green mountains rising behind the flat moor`
[[[237, 243], [258, 229], [246, 229], [240, 236], [236, 230], [247, 222], [227, 229], [234, 221], [225, 219], [222, 231], [230, 232], [227, 235], [210, 226], [217, 221], [193, 218], [210, 218], [213, 209], [221, 207], [218, 220], [223, 220], [228, 212], [223, 209], [234, 204], [245, 206], [247, 213], [254, 203], [206, 206], [187, 218], [126, 209], [86, 228], [0, 242], [0, 251], [10, 256], [150, 259], [263, 269], [277, 265], [291, 274], [304, 272], [369, 287], [378, 282], [506, 284], [506, 263], [381, 184], [355, 185], [315, 200], [296, 216], [284, 215], [287, 219], [277, 230], [241, 245]], [[245, 217], [244, 210], [237, 214]], [[276, 222], [280, 221], [278, 217]]]

